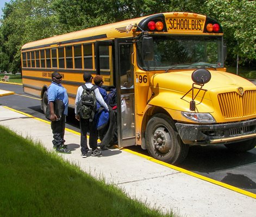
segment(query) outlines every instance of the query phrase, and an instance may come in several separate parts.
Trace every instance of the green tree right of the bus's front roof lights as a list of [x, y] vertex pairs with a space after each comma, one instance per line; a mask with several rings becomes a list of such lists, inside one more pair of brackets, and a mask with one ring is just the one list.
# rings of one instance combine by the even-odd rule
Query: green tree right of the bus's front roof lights
[[256, 1], [208, 0], [207, 8], [222, 24], [228, 63], [234, 65], [237, 54], [242, 64], [256, 61]]

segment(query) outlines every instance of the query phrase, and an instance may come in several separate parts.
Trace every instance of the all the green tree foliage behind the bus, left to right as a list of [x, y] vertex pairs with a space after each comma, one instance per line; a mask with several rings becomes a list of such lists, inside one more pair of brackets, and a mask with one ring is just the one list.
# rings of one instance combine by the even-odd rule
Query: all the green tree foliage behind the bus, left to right
[[159, 12], [188, 11], [220, 21], [229, 65], [256, 62], [256, 1], [11, 0], [0, 20], [0, 69], [20, 71], [24, 43]]

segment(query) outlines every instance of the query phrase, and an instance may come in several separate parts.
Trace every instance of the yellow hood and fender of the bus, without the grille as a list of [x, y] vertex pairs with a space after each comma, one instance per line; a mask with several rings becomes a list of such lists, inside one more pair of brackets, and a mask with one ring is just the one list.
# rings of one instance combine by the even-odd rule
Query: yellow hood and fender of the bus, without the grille
[[[192, 73], [193, 71], [179, 71], [152, 76], [152, 94], [151, 92], [148, 94], [148, 104], [164, 107], [168, 111], [190, 112], [193, 93], [197, 112], [216, 113], [218, 111], [217, 113], [220, 113], [219, 94], [238, 93], [240, 89], [242, 91], [256, 90], [256, 86], [247, 79], [231, 73], [212, 70], [210, 71], [211, 79], [202, 87], [203, 90], [198, 92], [201, 86], [194, 85], [197, 88], [192, 91]], [[224, 122], [224, 119], [218, 119], [218, 121]]]

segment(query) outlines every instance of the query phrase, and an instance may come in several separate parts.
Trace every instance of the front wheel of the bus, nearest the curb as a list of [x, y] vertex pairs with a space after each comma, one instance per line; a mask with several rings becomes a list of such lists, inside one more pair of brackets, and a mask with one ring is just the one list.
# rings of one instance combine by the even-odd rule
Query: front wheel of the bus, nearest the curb
[[166, 114], [155, 114], [147, 123], [146, 145], [149, 154], [167, 163], [181, 163], [189, 145], [180, 139], [173, 121]]

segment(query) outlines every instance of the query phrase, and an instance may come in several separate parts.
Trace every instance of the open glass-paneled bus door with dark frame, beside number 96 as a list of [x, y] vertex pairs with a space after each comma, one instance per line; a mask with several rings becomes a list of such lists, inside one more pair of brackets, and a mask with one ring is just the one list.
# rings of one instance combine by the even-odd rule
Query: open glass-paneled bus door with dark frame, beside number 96
[[115, 39], [118, 146], [135, 145], [134, 67], [132, 39]]

